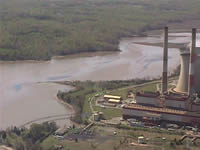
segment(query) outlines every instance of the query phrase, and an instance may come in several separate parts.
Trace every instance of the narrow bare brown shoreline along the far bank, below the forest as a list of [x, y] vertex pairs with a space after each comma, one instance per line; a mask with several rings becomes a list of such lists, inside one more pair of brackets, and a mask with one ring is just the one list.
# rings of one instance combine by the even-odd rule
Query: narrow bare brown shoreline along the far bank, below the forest
[[[198, 19], [187, 19], [182, 22], [168, 22], [167, 25], [169, 27], [170, 32], [174, 33], [183, 33], [183, 32], [191, 32], [191, 29], [195, 27], [200, 26], [200, 20]], [[164, 26], [163, 26], [164, 27]], [[200, 29], [199, 29], [200, 30]], [[131, 31], [130, 31], [131, 32]], [[162, 29], [160, 27], [157, 27], [156, 29], [149, 29], [146, 31], [139, 32], [137, 34], [133, 34], [131, 36], [126, 36], [126, 37], [119, 37], [117, 39], [118, 45], [119, 41], [121, 41], [123, 38], [135, 38], [135, 37], [146, 37], [146, 36], [155, 36], [156, 34], [161, 34]], [[156, 43], [159, 45], [159, 43]], [[155, 44], [155, 46], [156, 46]], [[176, 47], [175, 47], [176, 48]], [[23, 63], [23, 62], [34, 62], [34, 63], [41, 63], [41, 62], [50, 62], [53, 59], [65, 59], [65, 58], [76, 58], [76, 57], [87, 57], [87, 56], [101, 56], [101, 55], [106, 55], [106, 54], [113, 54], [115, 52], [121, 52], [120, 49], [116, 50], [98, 50], [98, 51], [82, 51], [82, 52], [71, 52], [69, 54], [65, 55], [53, 55], [49, 59], [24, 59], [24, 60], [0, 60], [0, 63]]]

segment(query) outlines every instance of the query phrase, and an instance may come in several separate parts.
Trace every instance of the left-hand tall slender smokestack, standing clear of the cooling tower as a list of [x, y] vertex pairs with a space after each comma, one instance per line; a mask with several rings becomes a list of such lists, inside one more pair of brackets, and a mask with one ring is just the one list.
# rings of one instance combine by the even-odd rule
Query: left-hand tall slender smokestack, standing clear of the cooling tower
[[168, 68], [168, 27], [164, 28], [164, 44], [163, 44], [163, 74], [162, 74], [162, 94], [167, 92], [167, 68]]

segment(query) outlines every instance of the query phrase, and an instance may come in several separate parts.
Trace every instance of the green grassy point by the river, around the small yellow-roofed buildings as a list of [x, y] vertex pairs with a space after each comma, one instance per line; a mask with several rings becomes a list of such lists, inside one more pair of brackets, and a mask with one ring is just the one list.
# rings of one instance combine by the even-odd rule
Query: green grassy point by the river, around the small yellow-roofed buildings
[[[76, 111], [74, 121], [78, 123], [87, 122], [92, 112], [90, 109], [90, 99], [101, 92], [111, 93], [121, 95], [124, 99], [127, 98], [128, 91], [133, 89], [133, 85], [142, 84], [148, 82], [147, 80], [137, 79], [137, 80], [126, 80], [126, 81], [75, 81], [70, 84], [75, 87], [75, 90], [70, 92], [58, 92], [57, 96], [62, 99], [64, 102], [72, 105]], [[154, 84], [150, 84], [144, 88], [154, 87]], [[151, 89], [153, 90], [153, 89]], [[92, 101], [94, 111], [102, 111], [105, 114], [106, 119], [111, 119], [113, 117], [120, 117], [122, 112], [120, 109], [106, 108], [103, 109], [95, 105], [96, 98]]]

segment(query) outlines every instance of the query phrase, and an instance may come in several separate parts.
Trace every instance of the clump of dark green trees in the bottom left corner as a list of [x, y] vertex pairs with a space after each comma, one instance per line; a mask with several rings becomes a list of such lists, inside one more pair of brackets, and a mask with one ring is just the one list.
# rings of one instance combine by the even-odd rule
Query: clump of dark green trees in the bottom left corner
[[32, 124], [30, 129], [13, 127], [0, 132], [0, 141], [16, 150], [43, 150], [40, 143], [56, 130], [55, 122]]

